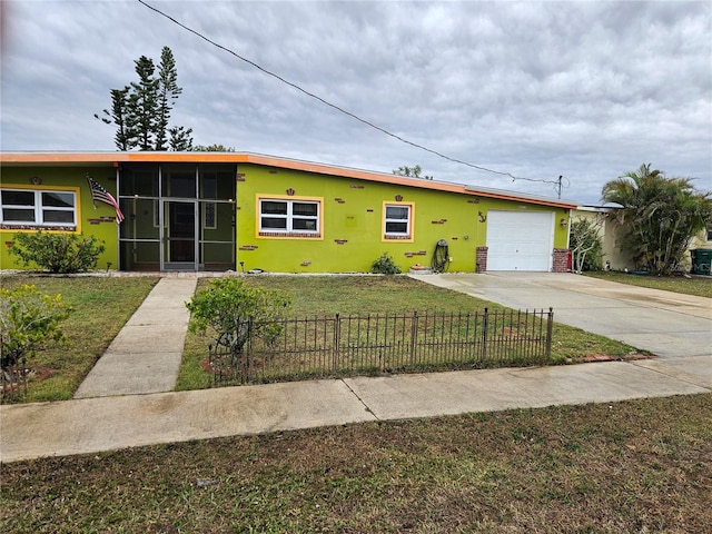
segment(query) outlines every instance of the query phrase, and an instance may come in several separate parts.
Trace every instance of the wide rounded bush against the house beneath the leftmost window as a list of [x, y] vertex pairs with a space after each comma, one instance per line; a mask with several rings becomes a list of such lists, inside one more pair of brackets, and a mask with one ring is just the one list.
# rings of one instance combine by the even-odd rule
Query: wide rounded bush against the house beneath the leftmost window
[[83, 234], [18, 233], [9, 248], [24, 267], [36, 265], [50, 273], [85, 273], [97, 266], [106, 250], [102, 240]]

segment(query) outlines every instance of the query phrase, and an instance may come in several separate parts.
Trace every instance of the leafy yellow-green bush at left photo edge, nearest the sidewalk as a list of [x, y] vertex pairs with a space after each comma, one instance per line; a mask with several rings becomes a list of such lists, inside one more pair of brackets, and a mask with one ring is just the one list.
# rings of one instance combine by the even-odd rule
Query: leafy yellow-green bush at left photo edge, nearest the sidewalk
[[51, 344], [66, 343], [60, 323], [71, 312], [61, 295], [42, 295], [34, 286], [0, 288], [2, 367], [17, 365]]

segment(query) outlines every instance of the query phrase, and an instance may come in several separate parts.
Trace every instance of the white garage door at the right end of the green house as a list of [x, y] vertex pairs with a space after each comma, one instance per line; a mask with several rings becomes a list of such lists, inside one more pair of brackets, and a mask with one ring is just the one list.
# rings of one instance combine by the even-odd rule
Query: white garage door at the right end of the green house
[[553, 246], [552, 211], [487, 214], [487, 270], [548, 271]]

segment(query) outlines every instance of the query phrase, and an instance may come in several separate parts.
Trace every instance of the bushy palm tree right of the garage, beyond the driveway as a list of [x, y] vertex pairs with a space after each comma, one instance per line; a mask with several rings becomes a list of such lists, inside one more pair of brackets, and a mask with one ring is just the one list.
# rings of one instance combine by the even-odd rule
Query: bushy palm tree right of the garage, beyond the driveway
[[641, 269], [670, 275], [680, 264], [690, 239], [712, 224], [709, 191], [695, 191], [691, 178], [666, 178], [650, 164], [609, 181], [601, 194], [617, 204], [609, 217], [622, 229], [619, 248]]

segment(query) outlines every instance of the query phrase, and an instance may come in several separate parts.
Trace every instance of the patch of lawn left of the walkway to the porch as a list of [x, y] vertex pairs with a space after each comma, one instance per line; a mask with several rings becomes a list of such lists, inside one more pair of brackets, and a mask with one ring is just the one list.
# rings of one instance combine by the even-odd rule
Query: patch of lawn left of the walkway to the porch
[[8, 289], [28, 284], [43, 294], [60, 294], [62, 300], [75, 309], [62, 323], [69, 346], [40, 350], [36, 356], [28, 357], [30, 367], [48, 369], [51, 374], [47, 379], [30, 382], [28, 395], [22, 400], [71, 398], [81, 380], [157, 281], [157, 277], [0, 277], [0, 284]]

